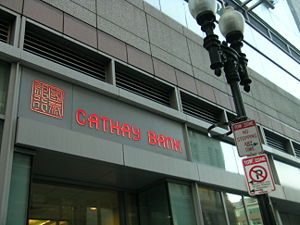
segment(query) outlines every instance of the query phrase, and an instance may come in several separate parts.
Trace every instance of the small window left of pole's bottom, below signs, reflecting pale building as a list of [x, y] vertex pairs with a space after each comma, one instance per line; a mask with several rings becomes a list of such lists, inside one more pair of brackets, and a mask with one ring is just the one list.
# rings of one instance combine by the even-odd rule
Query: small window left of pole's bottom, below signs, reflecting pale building
[[248, 224], [242, 196], [225, 193], [224, 200], [230, 225]]

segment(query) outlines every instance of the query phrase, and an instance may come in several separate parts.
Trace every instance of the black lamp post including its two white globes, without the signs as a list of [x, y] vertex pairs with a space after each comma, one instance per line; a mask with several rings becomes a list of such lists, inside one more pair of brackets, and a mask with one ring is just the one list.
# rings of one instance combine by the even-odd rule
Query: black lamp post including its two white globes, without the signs
[[[216, 22], [216, 0], [189, 0], [189, 9], [192, 16], [206, 33], [203, 46], [210, 57], [210, 68], [217, 76], [221, 76], [222, 69], [225, 72], [227, 83], [231, 93], [237, 118], [235, 122], [247, 120], [246, 111], [239, 85], [246, 92], [250, 91], [251, 79], [247, 73], [247, 58], [242, 53], [244, 17], [232, 7], [224, 8], [223, 15], [219, 20], [219, 28], [226, 38], [221, 43], [214, 34]], [[257, 196], [260, 205], [264, 225], [276, 225], [270, 199], [267, 194]]]

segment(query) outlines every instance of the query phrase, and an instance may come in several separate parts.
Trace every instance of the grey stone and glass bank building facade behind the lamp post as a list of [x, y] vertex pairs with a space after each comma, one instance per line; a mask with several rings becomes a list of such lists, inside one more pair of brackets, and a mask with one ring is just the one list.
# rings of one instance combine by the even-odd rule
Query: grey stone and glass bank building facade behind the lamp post
[[[247, 20], [243, 99], [274, 176], [276, 223], [296, 225], [299, 30], [287, 37], [270, 22], [296, 3], [245, 2], [228, 2]], [[186, 10], [183, 0], [0, 0], [0, 224], [263, 224], [233, 136], [208, 137], [235, 108]]]

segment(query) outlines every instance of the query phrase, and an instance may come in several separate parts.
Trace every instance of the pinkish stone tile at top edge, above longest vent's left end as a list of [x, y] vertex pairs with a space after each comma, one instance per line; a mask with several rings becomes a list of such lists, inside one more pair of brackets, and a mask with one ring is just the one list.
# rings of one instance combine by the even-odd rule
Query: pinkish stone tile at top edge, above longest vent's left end
[[63, 31], [63, 12], [42, 1], [25, 0], [23, 13], [46, 26]]

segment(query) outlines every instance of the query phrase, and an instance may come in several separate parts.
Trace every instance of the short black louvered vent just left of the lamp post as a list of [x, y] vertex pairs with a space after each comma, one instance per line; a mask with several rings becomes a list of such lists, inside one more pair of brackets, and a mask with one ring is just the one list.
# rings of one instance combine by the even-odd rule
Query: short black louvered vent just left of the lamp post
[[209, 123], [220, 122], [223, 110], [184, 92], [181, 92], [181, 102], [184, 113]]

